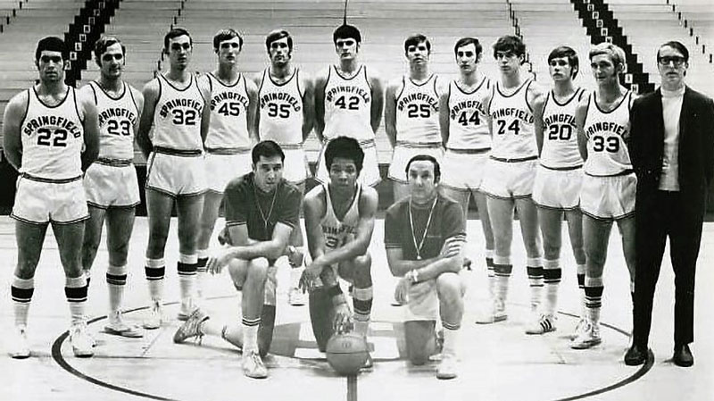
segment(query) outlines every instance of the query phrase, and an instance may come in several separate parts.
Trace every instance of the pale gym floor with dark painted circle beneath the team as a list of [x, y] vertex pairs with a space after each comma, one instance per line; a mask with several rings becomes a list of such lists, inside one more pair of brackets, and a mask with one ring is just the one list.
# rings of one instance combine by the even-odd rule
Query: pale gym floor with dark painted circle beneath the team
[[[137, 218], [129, 251], [129, 287], [125, 316], [141, 322], [148, 294], [144, 280], [145, 218]], [[370, 252], [375, 302], [369, 340], [376, 360], [371, 372], [355, 378], [337, 376], [317, 352], [307, 306], [287, 305], [288, 269], [278, 264], [278, 322], [272, 351], [266, 358], [270, 378], [250, 380], [240, 368], [240, 353], [219, 338], [203, 338], [198, 346], [172, 343], [179, 325], [175, 271], [178, 245], [173, 221], [167, 246], [165, 317], [162, 329], [147, 331], [145, 338], [118, 338], [102, 332], [107, 307], [104, 282], [107, 260], [104, 245], [95, 263], [89, 291], [90, 331], [95, 334], [95, 356], [75, 358], [66, 337], [69, 308], [63, 294], [63, 274], [51, 235], [36, 276], [30, 308], [29, 341], [32, 356], [12, 360], [7, 336], [0, 339], [0, 399], [2, 400], [710, 400], [714, 399], [714, 223], [706, 223], [698, 266], [696, 290], [695, 364], [685, 369], [668, 359], [672, 353], [674, 303], [673, 274], [666, 256], [660, 275], [653, 317], [653, 363], [628, 367], [622, 356], [631, 330], [631, 304], [627, 269], [613, 230], [605, 270], [602, 309], [602, 345], [590, 350], [569, 348], [566, 336], [577, 323], [577, 284], [569, 245], [562, 253], [558, 330], [544, 336], [527, 336], [527, 279], [525, 254], [519, 237], [513, 246], [514, 274], [509, 295], [509, 320], [495, 325], [475, 324], [486, 307], [486, 266], [480, 223], [470, 220], [468, 255], [475, 261], [469, 272], [466, 313], [461, 330], [461, 372], [456, 380], [436, 380], [436, 363], [411, 367], [403, 358], [402, 312], [390, 305], [395, 280], [386, 266], [379, 220]], [[220, 226], [220, 223], [218, 224]], [[0, 218], [0, 333], [12, 330], [10, 281], [16, 262], [13, 222]], [[514, 230], [516, 233], [519, 230]], [[565, 233], [564, 233], [565, 234]], [[568, 236], [563, 236], [567, 241]], [[237, 319], [237, 299], [224, 273], [207, 284], [204, 307], [212, 319]]]

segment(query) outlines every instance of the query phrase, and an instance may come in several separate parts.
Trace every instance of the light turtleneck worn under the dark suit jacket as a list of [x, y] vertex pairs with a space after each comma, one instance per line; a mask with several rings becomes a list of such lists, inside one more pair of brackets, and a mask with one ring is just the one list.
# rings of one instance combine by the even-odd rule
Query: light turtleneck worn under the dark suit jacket
[[679, 190], [679, 115], [682, 112], [682, 100], [685, 87], [677, 90], [662, 88], [662, 117], [664, 119], [664, 157], [660, 189]]

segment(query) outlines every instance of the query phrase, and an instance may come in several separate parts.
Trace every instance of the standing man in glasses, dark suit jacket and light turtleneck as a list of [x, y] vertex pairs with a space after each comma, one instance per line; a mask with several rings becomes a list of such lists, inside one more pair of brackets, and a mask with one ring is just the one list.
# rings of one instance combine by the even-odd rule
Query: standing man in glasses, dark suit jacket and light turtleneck
[[657, 52], [661, 87], [635, 100], [630, 156], [637, 175], [635, 311], [625, 363], [642, 364], [652, 325], [652, 299], [665, 241], [675, 272], [675, 352], [694, 363], [694, 271], [702, 238], [707, 188], [714, 171], [714, 103], [685, 86], [689, 52], [668, 42]]

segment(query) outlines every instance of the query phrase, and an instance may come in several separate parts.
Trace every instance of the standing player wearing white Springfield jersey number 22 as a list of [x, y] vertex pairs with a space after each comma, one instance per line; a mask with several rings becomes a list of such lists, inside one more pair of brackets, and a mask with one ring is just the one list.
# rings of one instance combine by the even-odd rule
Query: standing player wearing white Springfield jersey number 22
[[4, 155], [20, 172], [11, 214], [18, 250], [10, 288], [13, 358], [29, 357], [29, 304], [50, 224], [64, 269], [72, 351], [76, 356], [94, 355], [94, 339], [87, 333], [87, 278], [81, 263], [84, 221], [89, 217], [82, 174], [98, 155], [99, 128], [92, 99], [64, 83], [69, 53], [61, 38], [37, 42], [39, 83], [13, 96], [4, 112]]

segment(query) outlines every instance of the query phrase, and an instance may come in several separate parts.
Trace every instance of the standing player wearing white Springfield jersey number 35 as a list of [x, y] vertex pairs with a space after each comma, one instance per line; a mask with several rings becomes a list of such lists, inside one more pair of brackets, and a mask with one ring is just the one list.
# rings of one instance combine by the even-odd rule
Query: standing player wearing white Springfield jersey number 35
[[[310, 175], [303, 149], [314, 121], [314, 90], [312, 80], [293, 65], [293, 37], [286, 30], [271, 31], [265, 38], [270, 67], [254, 80], [258, 87], [258, 136], [273, 140], [285, 152], [285, 178], [302, 194]], [[303, 274], [303, 230], [298, 224], [287, 246], [290, 263], [290, 305], [305, 305], [303, 291], [298, 287]]]

